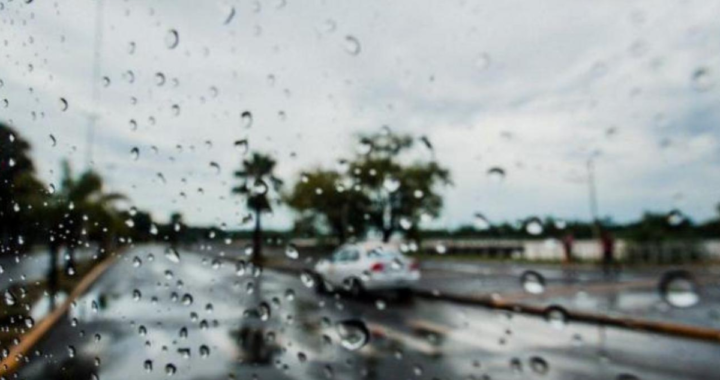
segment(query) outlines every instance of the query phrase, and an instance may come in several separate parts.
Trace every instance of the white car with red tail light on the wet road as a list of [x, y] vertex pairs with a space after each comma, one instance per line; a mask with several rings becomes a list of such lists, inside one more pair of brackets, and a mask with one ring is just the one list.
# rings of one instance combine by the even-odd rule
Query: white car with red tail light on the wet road
[[420, 279], [418, 262], [392, 244], [346, 244], [329, 260], [315, 265], [318, 290], [344, 289], [353, 295], [365, 291], [408, 290]]

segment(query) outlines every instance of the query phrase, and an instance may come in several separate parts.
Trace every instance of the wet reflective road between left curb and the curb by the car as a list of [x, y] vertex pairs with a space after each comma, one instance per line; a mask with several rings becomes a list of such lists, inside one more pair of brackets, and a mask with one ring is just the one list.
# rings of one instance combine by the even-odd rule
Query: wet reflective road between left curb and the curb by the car
[[[318, 296], [296, 275], [238, 271], [235, 257], [180, 251], [174, 262], [164, 252], [126, 252], [19, 378], [720, 377], [711, 343], [442, 301]], [[347, 319], [372, 332], [359, 350], [341, 344], [335, 324]]]

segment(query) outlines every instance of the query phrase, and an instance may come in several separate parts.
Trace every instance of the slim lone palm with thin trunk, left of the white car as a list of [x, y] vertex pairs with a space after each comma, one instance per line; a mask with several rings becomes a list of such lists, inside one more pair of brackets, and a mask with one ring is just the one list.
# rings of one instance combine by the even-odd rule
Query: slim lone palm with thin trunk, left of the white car
[[235, 172], [235, 178], [241, 184], [233, 188], [233, 194], [247, 197], [247, 207], [255, 214], [255, 230], [253, 231], [254, 264], [262, 264], [262, 223], [263, 212], [272, 211], [268, 193], [279, 191], [282, 181], [275, 177], [273, 170], [276, 161], [269, 155], [254, 152], [249, 160], [243, 160], [242, 168]]

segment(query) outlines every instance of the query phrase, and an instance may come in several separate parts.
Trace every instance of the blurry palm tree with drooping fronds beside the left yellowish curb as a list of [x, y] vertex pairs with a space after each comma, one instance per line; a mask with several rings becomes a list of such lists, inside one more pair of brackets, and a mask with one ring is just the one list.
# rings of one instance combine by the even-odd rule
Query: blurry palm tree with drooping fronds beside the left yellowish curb
[[74, 266], [75, 250], [88, 245], [90, 240], [99, 243], [99, 252], [104, 255], [114, 241], [114, 234], [122, 228], [115, 202], [125, 199], [118, 193], [106, 193], [98, 173], [88, 170], [75, 177], [67, 161], [62, 166], [60, 188], [51, 196], [44, 210], [50, 233], [48, 278], [51, 303], [57, 291], [60, 249], [63, 246], [67, 249], [66, 269]]

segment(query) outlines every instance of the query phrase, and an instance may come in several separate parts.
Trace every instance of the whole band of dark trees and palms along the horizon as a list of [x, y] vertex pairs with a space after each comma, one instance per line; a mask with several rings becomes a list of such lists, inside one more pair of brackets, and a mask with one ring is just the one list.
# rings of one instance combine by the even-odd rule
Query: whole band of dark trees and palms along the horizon
[[[241, 155], [229, 193], [244, 200], [249, 213], [239, 222], [252, 228], [232, 230], [193, 225], [180, 213], [173, 213], [167, 223], [156, 222], [150, 212], [107, 189], [99, 172], [76, 172], [68, 162], [60, 166], [58, 184], [46, 184], [36, 173], [29, 142], [18, 130], [0, 124], [0, 255], [19, 256], [45, 247], [52, 267], [67, 272], [76, 270], [75, 252], [81, 248], [94, 249], [102, 258], [132, 243], [177, 246], [224, 239], [251, 241], [246, 249], [257, 264], [263, 262], [264, 244], [285, 245], [298, 238], [314, 239], [322, 251], [368, 237], [401, 238], [415, 247], [426, 239], [562, 239], [568, 234], [590, 239], [601, 227], [636, 245], [640, 258], [646, 247], [677, 250], [669, 245], [677, 241], [685, 244], [681, 254], [694, 257], [694, 242], [720, 236], [720, 205], [716, 216], [703, 223], [679, 210], [648, 212], [630, 223], [553, 216], [491, 222], [476, 214], [472, 225], [428, 230], [422, 226], [441, 214], [443, 191], [453, 186], [450, 170], [437, 161], [431, 141], [383, 128], [356, 136], [352, 148], [331, 165], [302, 170], [291, 181], [277, 176], [279, 163], [272, 155]], [[293, 228], [265, 229], [264, 216], [279, 207], [293, 212]], [[58, 281], [54, 273], [47, 275], [51, 298]]]

